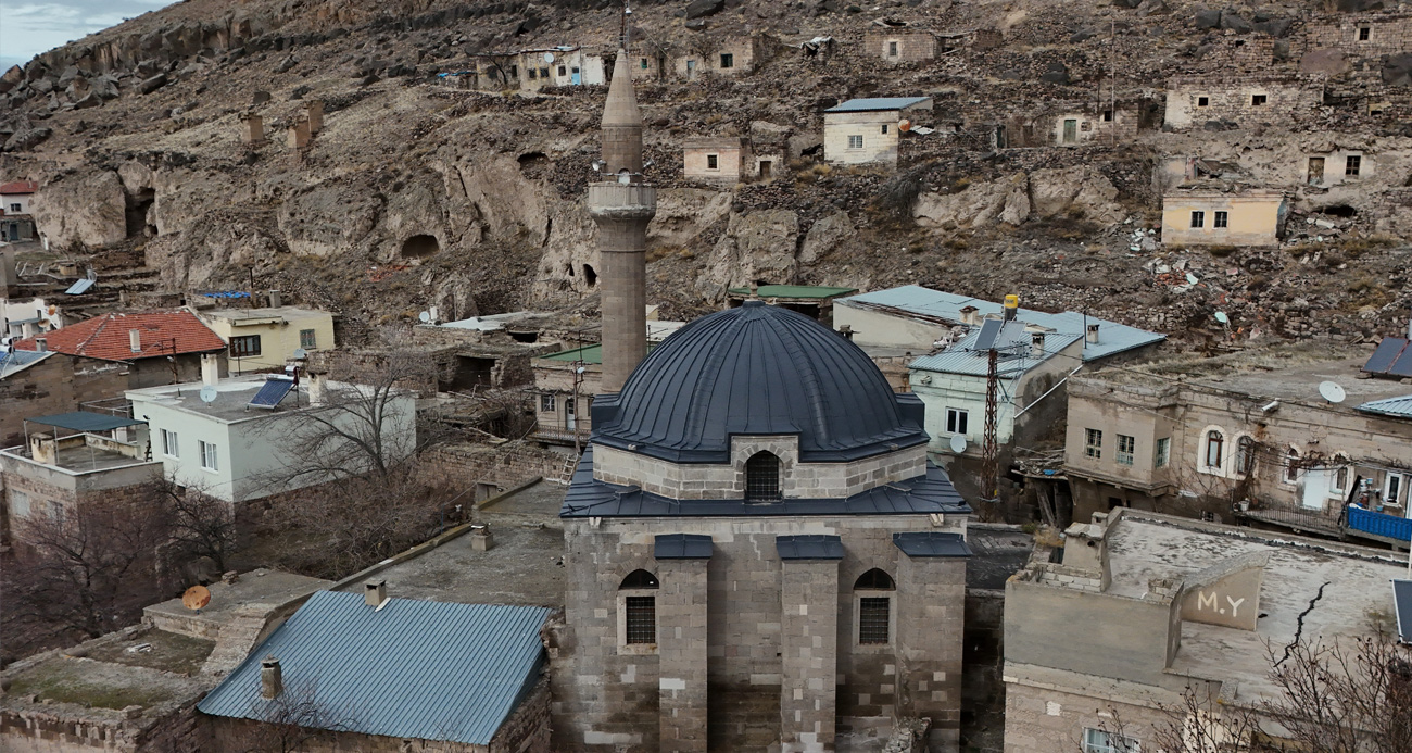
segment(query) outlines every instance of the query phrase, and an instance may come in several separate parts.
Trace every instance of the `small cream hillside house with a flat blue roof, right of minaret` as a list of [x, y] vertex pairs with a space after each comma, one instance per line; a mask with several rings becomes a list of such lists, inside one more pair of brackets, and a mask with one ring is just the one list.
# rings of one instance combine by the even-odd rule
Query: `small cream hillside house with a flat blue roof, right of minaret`
[[929, 119], [932, 97], [850, 99], [823, 112], [823, 155], [847, 165], [885, 162], [897, 167], [899, 123]]

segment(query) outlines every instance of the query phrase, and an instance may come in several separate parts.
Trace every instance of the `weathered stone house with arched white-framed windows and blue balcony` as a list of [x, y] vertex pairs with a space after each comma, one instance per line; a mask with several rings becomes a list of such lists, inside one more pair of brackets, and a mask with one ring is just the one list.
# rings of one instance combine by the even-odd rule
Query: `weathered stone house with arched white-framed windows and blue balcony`
[[[1065, 475], [1075, 520], [1134, 507], [1337, 534], [1344, 504], [1364, 493], [1367, 506], [1412, 517], [1412, 415], [1375, 405], [1412, 390], [1353, 379], [1360, 364], [1070, 379]], [[1330, 380], [1346, 403], [1320, 396]]]

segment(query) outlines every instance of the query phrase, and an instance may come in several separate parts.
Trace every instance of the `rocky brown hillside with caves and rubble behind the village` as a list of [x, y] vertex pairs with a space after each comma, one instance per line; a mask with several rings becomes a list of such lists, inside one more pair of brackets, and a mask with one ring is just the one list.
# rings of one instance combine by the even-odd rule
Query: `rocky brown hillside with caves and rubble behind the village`
[[[369, 324], [409, 321], [426, 305], [592, 309], [597, 259], [582, 196], [603, 88], [480, 92], [441, 73], [474, 69], [490, 52], [611, 48], [620, 16], [610, 6], [188, 0], [0, 76], [0, 178], [41, 182], [35, 220], [51, 246], [140, 249], [172, 292], [244, 288], [253, 277]], [[1165, 76], [1293, 71], [1313, 8], [1231, 8], [1214, 27], [1200, 7], [1161, 1], [693, 8], [635, 8], [633, 38], [668, 71], [744, 38], [758, 40], [758, 59], [743, 75], [638, 83], [661, 191], [651, 295], [665, 316], [712, 309], [727, 287], [750, 283], [919, 283], [1219, 335], [1216, 309], [1284, 322], [1286, 291], [1312, 274], [1327, 278], [1316, 284], [1320, 314], [1300, 318], [1348, 336], [1395, 329], [1412, 309], [1412, 138], [1395, 117], [1329, 99], [1300, 123], [1159, 129]], [[957, 34], [942, 37], [936, 59], [897, 65], [868, 47], [897, 25]], [[820, 37], [832, 41], [812, 41]], [[1241, 58], [1252, 48], [1269, 62]], [[1327, 90], [1368, 86], [1401, 112], [1412, 88], [1363, 75], [1384, 64], [1396, 55], [1340, 68]], [[1043, 141], [1066, 112], [1106, 127], [1093, 102], [1114, 82], [1142, 103], [1131, 133], [1072, 148]], [[820, 109], [918, 93], [933, 96], [939, 133], [909, 137], [898, 170], [819, 161]], [[309, 103], [322, 103], [323, 127], [289, 146]], [[249, 114], [267, 141], [247, 143]], [[1012, 143], [997, 150], [1004, 129]], [[696, 136], [748, 136], [774, 158], [772, 174], [683, 179], [682, 141]], [[1305, 185], [1308, 154], [1348, 151], [1368, 160], [1358, 182]], [[1161, 216], [1163, 165], [1187, 158], [1238, 162], [1250, 181], [1286, 188], [1293, 236], [1306, 243], [1276, 254], [1158, 246], [1147, 230]], [[1176, 263], [1206, 283], [1176, 290], [1154, 271]], [[1262, 331], [1308, 333], [1299, 326]]]

